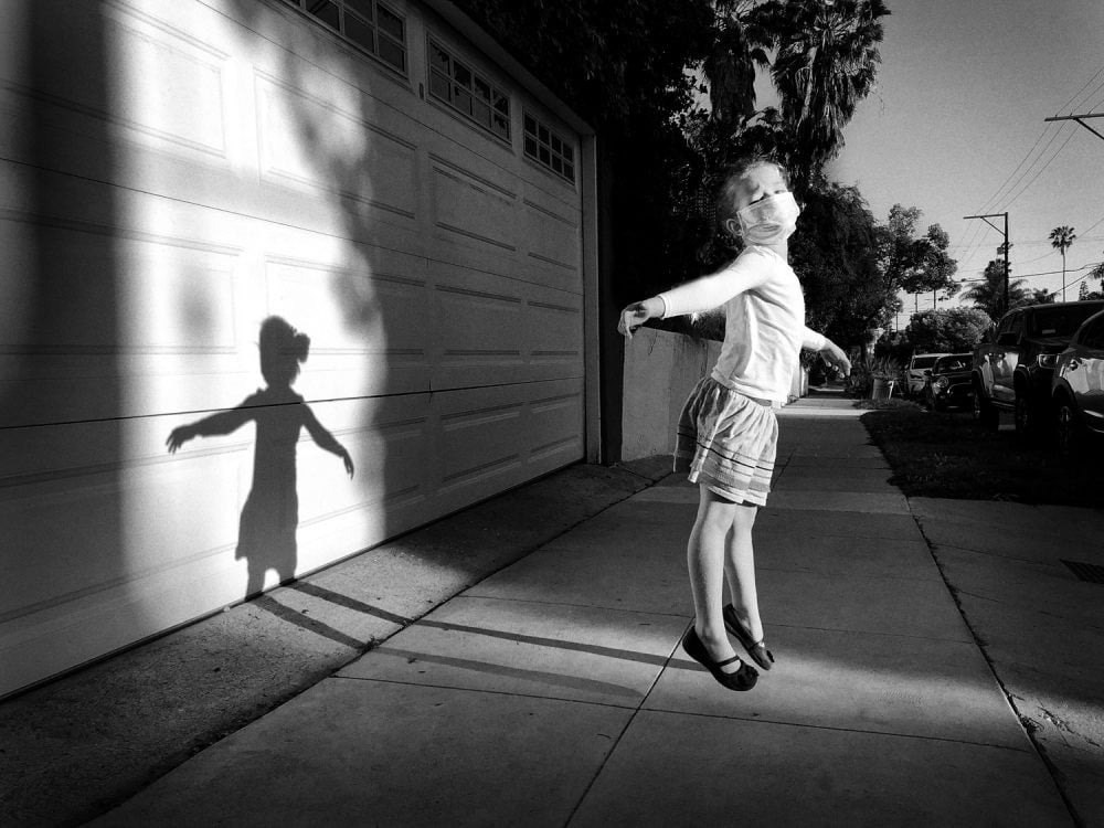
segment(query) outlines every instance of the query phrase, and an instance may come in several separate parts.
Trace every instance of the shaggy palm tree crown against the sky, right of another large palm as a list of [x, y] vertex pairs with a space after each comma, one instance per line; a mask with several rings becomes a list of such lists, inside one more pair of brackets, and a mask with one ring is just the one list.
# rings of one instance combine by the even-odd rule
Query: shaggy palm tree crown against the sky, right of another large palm
[[793, 132], [790, 164], [809, 180], [843, 146], [843, 127], [874, 87], [883, 0], [769, 0], [756, 9], [773, 33], [771, 76]]

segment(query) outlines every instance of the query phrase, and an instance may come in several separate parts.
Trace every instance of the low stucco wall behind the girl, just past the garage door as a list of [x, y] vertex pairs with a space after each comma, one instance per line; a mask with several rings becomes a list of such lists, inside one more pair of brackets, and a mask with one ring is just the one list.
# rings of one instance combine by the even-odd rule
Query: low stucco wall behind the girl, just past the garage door
[[[720, 342], [651, 328], [640, 328], [625, 343], [623, 460], [671, 453], [682, 404], [720, 353]], [[807, 373], [795, 372], [790, 399], [807, 393]]]

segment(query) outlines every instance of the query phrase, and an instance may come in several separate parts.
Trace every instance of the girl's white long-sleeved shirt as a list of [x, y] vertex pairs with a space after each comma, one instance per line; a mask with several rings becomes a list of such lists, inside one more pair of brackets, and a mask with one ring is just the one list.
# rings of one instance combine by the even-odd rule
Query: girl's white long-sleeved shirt
[[803, 342], [826, 340], [805, 327], [805, 296], [794, 268], [752, 246], [711, 276], [659, 295], [664, 318], [724, 306], [724, 344], [712, 376], [747, 396], [785, 403]]

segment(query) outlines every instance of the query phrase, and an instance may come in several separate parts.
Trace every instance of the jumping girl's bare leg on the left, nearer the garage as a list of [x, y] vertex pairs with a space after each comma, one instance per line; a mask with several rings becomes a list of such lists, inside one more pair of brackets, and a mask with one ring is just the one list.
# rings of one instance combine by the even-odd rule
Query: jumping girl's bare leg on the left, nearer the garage
[[[699, 486], [698, 518], [687, 543], [687, 567], [693, 593], [694, 631], [713, 661], [724, 661], [736, 655], [724, 631], [721, 608], [724, 599], [725, 539], [733, 528], [735, 503], [724, 500], [704, 486]], [[753, 584], [754, 585], [754, 584]], [[741, 661], [724, 665], [721, 670], [735, 672]]]

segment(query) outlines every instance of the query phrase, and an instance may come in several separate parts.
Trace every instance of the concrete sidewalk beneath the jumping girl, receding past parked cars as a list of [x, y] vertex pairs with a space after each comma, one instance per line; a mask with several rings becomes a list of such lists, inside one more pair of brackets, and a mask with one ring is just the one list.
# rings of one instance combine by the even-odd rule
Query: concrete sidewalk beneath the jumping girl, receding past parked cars
[[1078, 825], [860, 413], [781, 413], [751, 692], [679, 648], [697, 491], [669, 477], [94, 825]]

